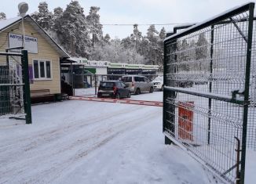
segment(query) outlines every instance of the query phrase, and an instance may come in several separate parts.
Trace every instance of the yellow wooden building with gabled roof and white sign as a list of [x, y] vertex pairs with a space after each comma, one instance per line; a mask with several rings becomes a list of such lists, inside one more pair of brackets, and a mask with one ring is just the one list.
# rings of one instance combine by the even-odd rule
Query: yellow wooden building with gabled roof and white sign
[[[24, 17], [24, 30], [31, 97], [35, 95], [33, 92], [39, 95], [60, 94], [60, 60], [68, 58], [68, 53], [31, 16]], [[22, 34], [21, 17], [0, 20], [0, 52], [5, 52], [6, 48], [22, 46]]]

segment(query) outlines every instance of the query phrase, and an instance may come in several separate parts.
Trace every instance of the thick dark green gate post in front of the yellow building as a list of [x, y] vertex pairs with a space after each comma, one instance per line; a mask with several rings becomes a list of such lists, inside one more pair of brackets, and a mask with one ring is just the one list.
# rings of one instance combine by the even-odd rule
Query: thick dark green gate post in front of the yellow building
[[29, 72], [28, 72], [28, 57], [27, 50], [22, 50], [22, 74], [24, 79], [24, 107], [26, 112], [26, 124], [32, 123], [31, 117], [31, 96], [30, 96], [30, 84], [29, 84]]

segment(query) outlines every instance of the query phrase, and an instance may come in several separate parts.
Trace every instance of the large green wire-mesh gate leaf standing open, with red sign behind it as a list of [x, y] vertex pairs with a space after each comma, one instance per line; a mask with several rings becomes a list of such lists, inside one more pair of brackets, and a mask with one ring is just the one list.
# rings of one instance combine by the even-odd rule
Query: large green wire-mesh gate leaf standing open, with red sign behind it
[[164, 42], [166, 143], [188, 150], [223, 182], [244, 183], [246, 148], [256, 149], [253, 16], [248, 3]]

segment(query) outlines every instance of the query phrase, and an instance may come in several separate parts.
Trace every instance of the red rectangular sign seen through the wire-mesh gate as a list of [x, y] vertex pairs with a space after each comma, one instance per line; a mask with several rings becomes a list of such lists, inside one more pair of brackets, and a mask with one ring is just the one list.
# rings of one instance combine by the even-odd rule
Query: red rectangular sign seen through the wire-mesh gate
[[178, 138], [193, 141], [194, 102], [179, 102]]

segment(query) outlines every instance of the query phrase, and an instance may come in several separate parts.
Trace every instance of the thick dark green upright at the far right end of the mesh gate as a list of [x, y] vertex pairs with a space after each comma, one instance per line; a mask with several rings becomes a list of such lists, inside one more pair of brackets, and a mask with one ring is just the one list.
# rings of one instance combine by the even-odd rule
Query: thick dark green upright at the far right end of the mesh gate
[[[248, 22], [248, 41], [247, 41], [247, 61], [246, 61], [246, 74], [244, 86], [244, 101], [249, 102], [249, 87], [250, 87], [250, 70], [251, 70], [251, 44], [252, 33], [254, 26], [254, 3], [249, 5], [249, 22]], [[246, 103], [243, 107], [243, 136], [242, 136], [242, 156], [241, 156], [241, 182], [244, 183], [245, 176], [245, 160], [246, 160], [246, 147], [247, 147], [247, 119], [248, 119], [248, 106]]]

